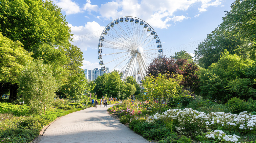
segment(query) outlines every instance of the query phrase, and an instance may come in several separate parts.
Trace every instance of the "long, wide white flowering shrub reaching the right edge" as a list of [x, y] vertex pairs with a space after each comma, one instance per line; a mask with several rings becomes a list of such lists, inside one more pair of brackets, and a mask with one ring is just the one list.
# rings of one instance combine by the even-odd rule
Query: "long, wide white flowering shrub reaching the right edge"
[[206, 115], [204, 112], [198, 112], [192, 108], [169, 109], [162, 114], [157, 113], [148, 117], [146, 121], [155, 122], [164, 118], [177, 121], [178, 124], [175, 128], [180, 134], [197, 135], [200, 132], [216, 130], [218, 127], [224, 131], [256, 134], [256, 115], [247, 114], [246, 111], [239, 115], [224, 112], [212, 112]]

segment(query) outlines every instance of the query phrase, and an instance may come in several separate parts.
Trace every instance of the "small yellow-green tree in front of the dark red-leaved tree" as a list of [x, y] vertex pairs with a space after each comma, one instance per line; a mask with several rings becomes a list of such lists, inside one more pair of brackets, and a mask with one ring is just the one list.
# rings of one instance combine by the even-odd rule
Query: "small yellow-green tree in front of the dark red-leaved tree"
[[158, 74], [158, 77], [145, 77], [142, 80], [144, 90], [147, 92], [144, 99], [149, 101], [153, 108], [158, 108], [158, 113], [160, 113], [164, 101], [183, 97], [182, 86], [180, 86], [181, 80], [182, 76], [178, 76], [176, 79], [168, 79], [161, 74]]

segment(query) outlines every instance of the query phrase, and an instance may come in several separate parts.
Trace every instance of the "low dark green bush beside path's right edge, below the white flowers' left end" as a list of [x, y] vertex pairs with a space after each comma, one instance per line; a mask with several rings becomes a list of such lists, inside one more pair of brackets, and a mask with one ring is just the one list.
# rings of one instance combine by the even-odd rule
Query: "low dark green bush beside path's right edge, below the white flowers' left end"
[[168, 135], [171, 135], [171, 132], [167, 128], [152, 129], [143, 133], [143, 137], [148, 140], [160, 140]]

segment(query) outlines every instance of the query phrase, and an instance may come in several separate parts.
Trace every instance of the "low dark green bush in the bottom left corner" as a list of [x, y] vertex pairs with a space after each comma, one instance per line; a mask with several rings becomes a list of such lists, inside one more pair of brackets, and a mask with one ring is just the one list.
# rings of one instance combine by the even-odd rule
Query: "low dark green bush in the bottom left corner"
[[39, 135], [39, 130], [10, 129], [0, 133], [2, 143], [27, 143]]

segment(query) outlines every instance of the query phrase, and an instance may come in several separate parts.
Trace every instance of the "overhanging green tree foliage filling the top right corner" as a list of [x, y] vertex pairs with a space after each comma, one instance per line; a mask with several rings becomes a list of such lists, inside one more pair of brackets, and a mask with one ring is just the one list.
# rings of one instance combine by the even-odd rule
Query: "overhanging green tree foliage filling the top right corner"
[[[239, 33], [239, 38], [243, 39], [244, 47], [240, 47], [245, 53], [249, 53], [249, 58], [256, 60], [256, 1], [255, 0], [235, 0], [231, 4], [231, 10], [225, 11], [223, 23], [220, 28], [225, 32], [230, 31], [235, 35]], [[246, 57], [247, 58], [247, 57]]]

